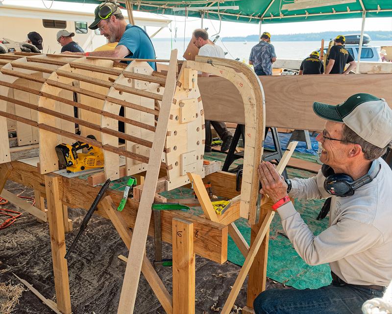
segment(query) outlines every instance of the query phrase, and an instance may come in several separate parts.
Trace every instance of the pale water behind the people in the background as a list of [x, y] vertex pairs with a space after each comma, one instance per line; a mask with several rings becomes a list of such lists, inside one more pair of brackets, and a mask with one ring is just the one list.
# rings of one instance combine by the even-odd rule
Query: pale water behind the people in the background
[[[178, 49], [178, 58], [181, 59], [181, 56], [184, 54], [184, 41], [181, 39], [177, 39], [176, 42], [174, 40], [154, 40], [152, 42], [155, 47], [155, 52], [158, 59], [169, 59], [170, 51], [172, 49]], [[236, 59], [239, 58], [240, 61], [245, 61], [249, 59], [250, 50], [253, 46], [255, 46], [257, 42], [223, 42], [218, 40], [217, 45], [221, 46], [224, 52], [228, 52], [226, 54], [226, 58]], [[371, 41], [370, 44], [372, 46], [392, 46], [391, 41]], [[272, 42], [272, 45], [275, 47], [276, 56], [278, 59], [303, 59], [307, 55], [309, 55], [312, 51], [318, 50], [320, 48], [320, 41], [277, 41]], [[328, 45], [328, 43], [324, 44], [324, 47]], [[185, 43], [185, 49], [188, 46], [188, 41]]]

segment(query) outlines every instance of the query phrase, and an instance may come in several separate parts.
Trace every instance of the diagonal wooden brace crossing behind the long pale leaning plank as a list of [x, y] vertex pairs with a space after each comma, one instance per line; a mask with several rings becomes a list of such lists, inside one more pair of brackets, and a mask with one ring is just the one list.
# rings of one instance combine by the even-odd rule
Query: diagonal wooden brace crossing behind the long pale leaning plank
[[[127, 226], [125, 220], [123, 219], [122, 213], [116, 210], [116, 205], [113, 203], [112, 198], [110, 196], [106, 196], [102, 200], [101, 204], [106, 214], [109, 216], [110, 220], [112, 221], [117, 232], [119, 233], [120, 237], [123, 239], [125, 246], [129, 250], [129, 247], [131, 246], [132, 232]], [[143, 257], [142, 273], [145, 276], [148, 284], [154, 291], [159, 302], [162, 304], [162, 307], [164, 308], [166, 313], [172, 314], [173, 313], [172, 297], [170, 296], [170, 293], [168, 292], [168, 290], [162, 283], [161, 279], [155, 272], [154, 267], [148, 261], [146, 254]]]

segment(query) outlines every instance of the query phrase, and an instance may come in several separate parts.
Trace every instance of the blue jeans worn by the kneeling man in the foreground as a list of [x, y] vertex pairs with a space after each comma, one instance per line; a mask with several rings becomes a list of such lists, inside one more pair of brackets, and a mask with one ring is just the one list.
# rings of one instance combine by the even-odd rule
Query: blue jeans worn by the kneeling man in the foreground
[[383, 292], [333, 284], [319, 289], [270, 289], [253, 302], [256, 314], [362, 314], [366, 300]]

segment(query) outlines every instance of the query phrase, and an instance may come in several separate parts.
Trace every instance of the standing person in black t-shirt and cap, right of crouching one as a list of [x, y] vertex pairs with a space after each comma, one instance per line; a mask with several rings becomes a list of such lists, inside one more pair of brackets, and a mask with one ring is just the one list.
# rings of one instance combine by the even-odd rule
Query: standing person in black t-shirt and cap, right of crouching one
[[[352, 55], [344, 48], [344, 43], [345, 37], [343, 35], [339, 35], [335, 38], [334, 46], [332, 46], [329, 51], [325, 74], [348, 74], [357, 66]], [[347, 63], [350, 65], [344, 71], [344, 67]]]

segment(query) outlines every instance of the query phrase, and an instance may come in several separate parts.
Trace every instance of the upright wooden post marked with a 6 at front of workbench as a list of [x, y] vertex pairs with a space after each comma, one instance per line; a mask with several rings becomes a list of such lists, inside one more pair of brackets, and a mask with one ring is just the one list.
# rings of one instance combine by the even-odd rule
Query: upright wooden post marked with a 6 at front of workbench
[[173, 314], [195, 313], [195, 250], [193, 223], [174, 218], [173, 236]]

